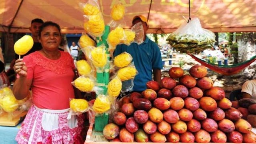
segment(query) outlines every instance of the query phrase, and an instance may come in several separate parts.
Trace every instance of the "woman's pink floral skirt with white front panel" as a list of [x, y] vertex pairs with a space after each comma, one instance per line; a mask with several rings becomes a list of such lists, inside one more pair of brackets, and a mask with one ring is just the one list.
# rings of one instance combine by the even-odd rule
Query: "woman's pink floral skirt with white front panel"
[[69, 109], [39, 109], [32, 105], [15, 140], [18, 144], [81, 144], [82, 116], [69, 115]]

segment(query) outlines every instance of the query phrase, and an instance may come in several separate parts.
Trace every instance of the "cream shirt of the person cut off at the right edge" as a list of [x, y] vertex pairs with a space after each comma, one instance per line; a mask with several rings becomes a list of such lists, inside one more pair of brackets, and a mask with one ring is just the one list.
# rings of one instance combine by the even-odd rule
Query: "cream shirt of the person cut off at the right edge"
[[256, 80], [248, 80], [242, 86], [242, 92], [252, 95], [252, 99], [256, 99]]

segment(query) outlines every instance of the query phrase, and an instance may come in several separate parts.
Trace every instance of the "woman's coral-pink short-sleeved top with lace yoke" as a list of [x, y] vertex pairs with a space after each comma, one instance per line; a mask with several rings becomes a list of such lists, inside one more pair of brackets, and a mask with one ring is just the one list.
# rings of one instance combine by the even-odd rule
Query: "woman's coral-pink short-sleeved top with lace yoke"
[[27, 78], [32, 78], [33, 102], [39, 108], [67, 109], [70, 98], [74, 98], [71, 84], [74, 62], [69, 53], [60, 53], [57, 60], [46, 58], [38, 51], [23, 58], [28, 68]]

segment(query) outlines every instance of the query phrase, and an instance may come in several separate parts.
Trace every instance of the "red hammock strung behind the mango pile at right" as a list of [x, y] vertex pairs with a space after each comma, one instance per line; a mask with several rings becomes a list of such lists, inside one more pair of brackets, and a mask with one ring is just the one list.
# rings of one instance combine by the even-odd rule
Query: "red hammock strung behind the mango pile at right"
[[254, 62], [256, 60], [255, 59], [256, 56], [253, 56], [249, 60], [246, 60], [245, 62], [242, 62], [239, 64], [233, 64], [233, 65], [228, 65], [228, 66], [226, 66], [226, 65], [219, 66], [218, 64], [209, 64], [208, 62], [201, 60], [200, 58], [194, 56], [193, 54], [190, 54], [190, 53], [187, 53], [187, 54], [190, 55], [192, 58], [194, 58], [197, 62], [199, 62], [203, 66], [206, 66], [210, 70], [213, 70], [214, 72], [223, 74], [225, 76], [231, 76], [233, 74], [237, 74], [238, 72], [240, 72], [241, 70], [246, 68], [246, 66], [249, 66], [252, 62]]

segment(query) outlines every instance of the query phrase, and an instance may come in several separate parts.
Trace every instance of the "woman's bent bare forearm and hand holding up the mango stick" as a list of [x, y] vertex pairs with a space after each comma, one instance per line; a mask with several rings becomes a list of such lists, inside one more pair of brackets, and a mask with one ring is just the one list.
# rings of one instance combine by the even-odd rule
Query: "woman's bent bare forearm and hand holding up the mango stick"
[[15, 98], [18, 100], [24, 99], [28, 95], [32, 84], [32, 79], [26, 78], [28, 68], [22, 60], [23, 59], [16, 60], [13, 67], [14, 71], [20, 76], [20, 78], [16, 79], [12, 88]]

